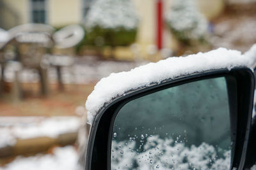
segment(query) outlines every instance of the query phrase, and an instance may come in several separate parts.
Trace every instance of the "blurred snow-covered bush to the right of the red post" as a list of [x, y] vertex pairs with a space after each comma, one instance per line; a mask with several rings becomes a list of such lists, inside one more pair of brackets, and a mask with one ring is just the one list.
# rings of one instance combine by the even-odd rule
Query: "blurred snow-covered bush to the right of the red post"
[[201, 39], [207, 32], [207, 20], [198, 11], [194, 0], [174, 0], [165, 20], [181, 41]]

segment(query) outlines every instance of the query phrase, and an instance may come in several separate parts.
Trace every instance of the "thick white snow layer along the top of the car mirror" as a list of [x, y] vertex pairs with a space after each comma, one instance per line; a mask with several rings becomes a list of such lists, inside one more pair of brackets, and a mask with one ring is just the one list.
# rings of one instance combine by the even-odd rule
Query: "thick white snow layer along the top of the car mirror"
[[237, 50], [218, 48], [206, 53], [188, 55], [188, 57], [170, 57], [136, 67], [128, 72], [112, 73], [107, 78], [102, 78], [95, 85], [92, 94], [88, 96], [85, 104], [88, 110], [88, 124], [92, 124], [93, 117], [104, 103], [109, 103], [117, 96], [125, 95], [129, 90], [196, 72], [232, 69], [239, 66], [252, 67], [256, 58], [256, 53], [253, 54], [255, 49], [256, 45], [243, 55]]

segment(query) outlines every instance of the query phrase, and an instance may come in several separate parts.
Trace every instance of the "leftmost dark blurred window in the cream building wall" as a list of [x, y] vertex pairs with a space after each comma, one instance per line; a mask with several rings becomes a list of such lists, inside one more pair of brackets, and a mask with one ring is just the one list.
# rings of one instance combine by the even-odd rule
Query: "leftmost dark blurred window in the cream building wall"
[[31, 22], [45, 23], [46, 22], [46, 0], [31, 0]]

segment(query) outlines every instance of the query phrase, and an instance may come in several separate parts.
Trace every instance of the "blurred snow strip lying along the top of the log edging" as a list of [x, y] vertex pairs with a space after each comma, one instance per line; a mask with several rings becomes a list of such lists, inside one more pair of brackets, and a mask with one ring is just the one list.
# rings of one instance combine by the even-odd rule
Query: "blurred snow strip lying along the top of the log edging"
[[77, 132], [80, 124], [79, 117], [0, 117], [0, 148], [15, 145], [16, 139], [58, 138]]

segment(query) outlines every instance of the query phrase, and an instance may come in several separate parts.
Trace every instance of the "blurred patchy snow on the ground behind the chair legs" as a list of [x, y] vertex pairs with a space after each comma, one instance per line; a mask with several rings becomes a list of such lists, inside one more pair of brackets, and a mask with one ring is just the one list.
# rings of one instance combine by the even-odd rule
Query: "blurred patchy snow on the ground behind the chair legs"
[[[110, 73], [129, 71], [133, 67], [140, 66], [145, 62], [116, 62], [95, 60], [90, 57], [81, 57], [74, 60], [74, 65], [62, 67], [64, 83], [86, 84], [97, 82], [100, 78], [108, 76]], [[15, 64], [6, 67], [4, 77], [6, 81], [12, 82], [15, 76]], [[50, 83], [57, 82], [57, 72], [54, 67], [49, 68], [48, 73]], [[22, 69], [19, 73], [19, 80], [23, 83], [35, 83], [39, 81], [38, 73], [35, 69]]]

